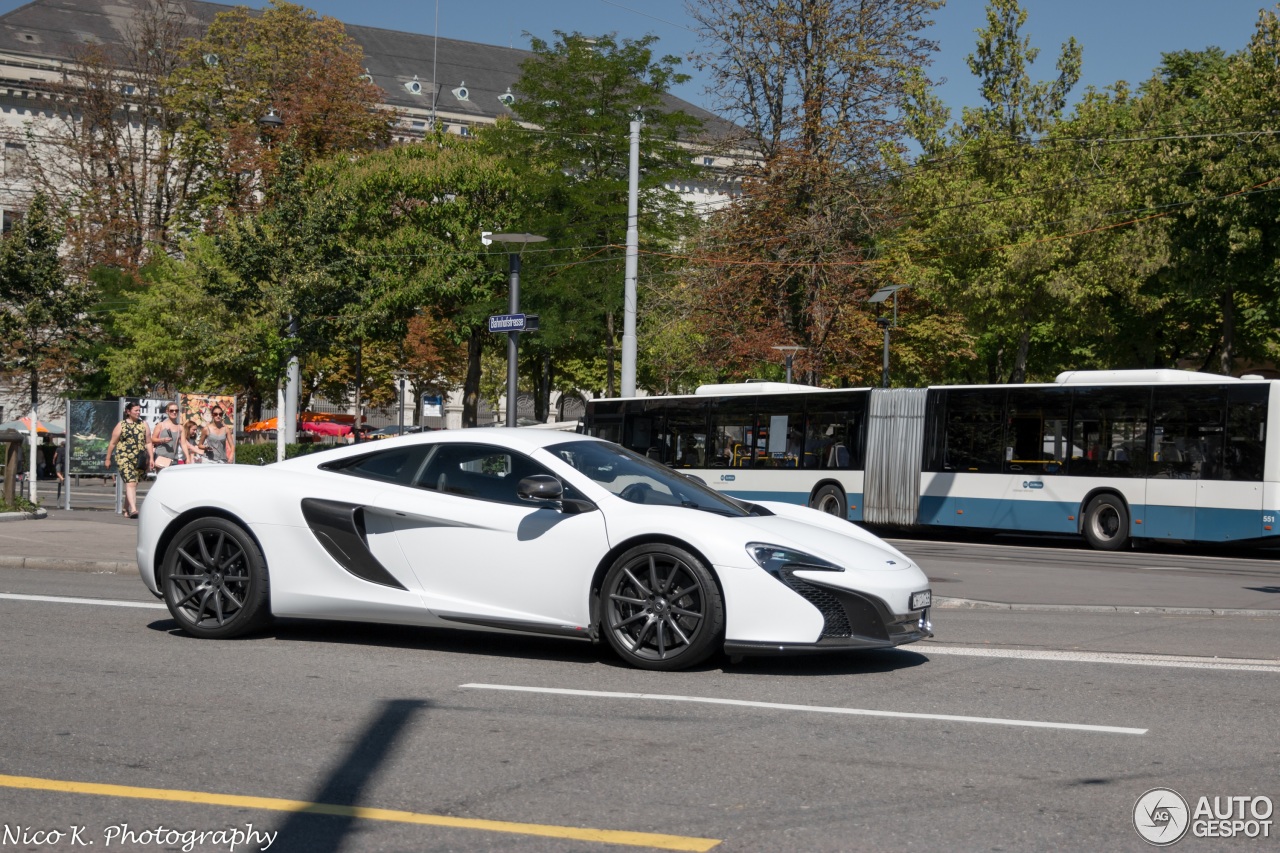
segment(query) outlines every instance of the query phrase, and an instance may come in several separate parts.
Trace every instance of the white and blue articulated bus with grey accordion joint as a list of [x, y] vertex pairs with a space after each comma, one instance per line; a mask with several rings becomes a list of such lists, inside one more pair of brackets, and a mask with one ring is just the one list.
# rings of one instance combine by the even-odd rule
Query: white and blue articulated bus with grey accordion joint
[[1078, 370], [1053, 383], [703, 386], [596, 400], [585, 432], [746, 501], [851, 521], [1133, 539], [1280, 535], [1280, 382]]

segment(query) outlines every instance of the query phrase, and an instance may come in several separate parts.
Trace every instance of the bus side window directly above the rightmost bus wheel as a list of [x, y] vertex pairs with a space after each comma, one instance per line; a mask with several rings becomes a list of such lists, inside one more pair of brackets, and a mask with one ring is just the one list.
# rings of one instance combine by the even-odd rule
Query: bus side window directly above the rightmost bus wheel
[[1146, 476], [1147, 416], [1151, 391], [1076, 388], [1071, 418], [1073, 457], [1068, 474], [1076, 476]]

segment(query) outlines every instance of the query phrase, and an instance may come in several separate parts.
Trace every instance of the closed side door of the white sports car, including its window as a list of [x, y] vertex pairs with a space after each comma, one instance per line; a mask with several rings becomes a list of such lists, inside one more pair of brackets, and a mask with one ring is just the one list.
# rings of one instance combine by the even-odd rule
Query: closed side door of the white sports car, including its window
[[603, 514], [521, 500], [517, 484], [532, 474], [550, 471], [495, 444], [447, 442], [413, 487], [381, 496], [379, 508], [435, 615], [516, 630], [586, 630], [591, 575], [609, 547]]

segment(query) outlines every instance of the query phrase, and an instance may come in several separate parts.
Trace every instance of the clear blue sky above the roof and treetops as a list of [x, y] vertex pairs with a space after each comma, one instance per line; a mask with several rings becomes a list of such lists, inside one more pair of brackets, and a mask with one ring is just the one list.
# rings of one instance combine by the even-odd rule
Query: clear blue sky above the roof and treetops
[[[266, 0], [248, 0], [262, 6]], [[532, 33], [552, 40], [553, 31], [584, 35], [616, 32], [620, 37], [658, 36], [657, 49], [687, 58], [699, 49], [685, 0], [297, 0], [320, 14], [348, 23], [461, 38], [490, 45], [527, 47]], [[0, 13], [22, 5], [0, 0]], [[1032, 67], [1034, 79], [1055, 76], [1059, 50], [1075, 36], [1084, 47], [1080, 83], [1098, 88], [1119, 79], [1138, 85], [1160, 64], [1161, 54], [1208, 46], [1233, 53], [1248, 44], [1266, 5], [1261, 0], [1021, 0], [1027, 9], [1023, 35], [1041, 49]], [[965, 65], [975, 31], [984, 26], [986, 3], [950, 0], [934, 14], [932, 37], [941, 50], [931, 69], [947, 82], [938, 93], [959, 118], [964, 105], [978, 105], [977, 81]], [[686, 60], [695, 79], [675, 90], [686, 101], [714, 110], [705, 79]]]

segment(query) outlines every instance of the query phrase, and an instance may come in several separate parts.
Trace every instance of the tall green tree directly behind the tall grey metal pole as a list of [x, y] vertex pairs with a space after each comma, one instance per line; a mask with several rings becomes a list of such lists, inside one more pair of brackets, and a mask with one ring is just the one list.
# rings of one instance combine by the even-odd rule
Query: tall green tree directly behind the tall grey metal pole
[[[657, 38], [618, 40], [556, 32], [553, 42], [532, 40], [532, 58], [512, 87], [512, 111], [532, 131], [502, 123], [480, 136], [481, 145], [518, 170], [536, 200], [518, 231], [549, 238], [554, 251], [525, 254], [522, 304], [543, 318], [538, 334], [521, 339], [527, 371], [536, 377], [539, 415], [558, 383], [554, 365], [570, 359], [602, 359], [604, 383], [613, 388], [613, 365], [622, 332], [623, 245], [631, 120], [639, 114], [640, 242], [645, 250], [669, 248], [695, 222], [671, 187], [695, 178], [690, 142], [701, 123], [672, 110], [666, 93], [687, 79], [680, 60], [655, 56]], [[666, 263], [645, 255], [641, 275], [660, 274]], [[522, 305], [522, 306], [524, 306]]]

